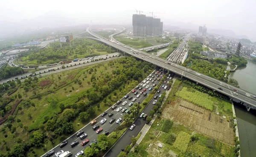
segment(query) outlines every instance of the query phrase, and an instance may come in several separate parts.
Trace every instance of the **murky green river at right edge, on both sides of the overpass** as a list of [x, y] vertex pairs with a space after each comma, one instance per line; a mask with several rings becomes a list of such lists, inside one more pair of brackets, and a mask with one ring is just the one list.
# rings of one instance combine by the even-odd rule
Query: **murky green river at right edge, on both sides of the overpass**
[[[231, 72], [230, 77], [239, 86], [256, 95], [256, 62], [247, 60], [247, 66]], [[241, 157], [256, 157], [256, 110], [248, 112], [244, 106], [235, 103], [240, 138]]]

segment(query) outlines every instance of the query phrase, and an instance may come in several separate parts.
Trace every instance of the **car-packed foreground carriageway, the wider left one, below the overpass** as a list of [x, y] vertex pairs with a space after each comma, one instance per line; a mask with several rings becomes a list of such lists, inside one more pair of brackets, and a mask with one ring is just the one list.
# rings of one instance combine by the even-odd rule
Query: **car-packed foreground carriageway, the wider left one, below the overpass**
[[[160, 74], [159, 74], [160, 75]], [[149, 75], [150, 76], [150, 75]], [[133, 91], [130, 91], [129, 93], [128, 93], [128, 95], [129, 95], [129, 97], [127, 97], [127, 98], [125, 98], [125, 97], [123, 97], [121, 100], [122, 100], [122, 103], [124, 103], [125, 101], [127, 101], [127, 103], [125, 104], [125, 105], [122, 105], [122, 103], [120, 103], [119, 105], [118, 104], [114, 104], [114, 105], [116, 105], [117, 106], [117, 108], [119, 108], [119, 107], [122, 107], [122, 108], [127, 108], [127, 109], [129, 109], [131, 106], [129, 106], [129, 104], [132, 102], [132, 103], [138, 103], [138, 102], [140, 102], [140, 103], [142, 103], [143, 102], [143, 100], [147, 97], [147, 96], [143, 96], [143, 94], [145, 94], [145, 93], [148, 93], [148, 94], [150, 94], [152, 91], [153, 91], [153, 89], [154, 89], [154, 84], [158, 84], [159, 83], [159, 81], [157, 80], [158, 78], [161, 78], [161, 76], [158, 76], [157, 77], [157, 75], [154, 75], [154, 74], [152, 74], [152, 76], [154, 76], [154, 78], [152, 78], [152, 76], [149, 78], [149, 76], [148, 76], [148, 80], [143, 80], [143, 82], [145, 82], [145, 81], [148, 81], [148, 83], [143, 83], [143, 82], [141, 82], [142, 84], [146, 84], [146, 86], [140, 86], [140, 84], [138, 85], [138, 88], [134, 88], [133, 90], [135, 90], [135, 92], [133, 92]], [[160, 80], [160, 79], [159, 79]], [[152, 82], [152, 81], [154, 81], [154, 82]], [[148, 87], [147, 87], [148, 86]], [[150, 88], [152, 88], [152, 90], [150, 90]], [[143, 91], [143, 90], [145, 90], [144, 91], [144, 93], [143, 94], [141, 94], [140, 95], [140, 97], [137, 97], [138, 96], [138, 94], [140, 94], [140, 92], [141, 91]], [[138, 92], [138, 94], [136, 94], [135, 95], [135, 93], [136, 92]], [[131, 99], [131, 97], [132, 97], [132, 99]], [[130, 99], [129, 99], [130, 98]], [[136, 98], [136, 100], [133, 100], [134, 98]], [[117, 109], [116, 108], [116, 109]], [[116, 123], [116, 120], [117, 119], [119, 119], [119, 118], [122, 118], [122, 116], [125, 114], [125, 113], [123, 113], [122, 111], [119, 111], [119, 112], [117, 112], [116, 111], [116, 109], [115, 110], [112, 110], [111, 108], [108, 108], [108, 110], [106, 111], [106, 112], [108, 112], [108, 114], [110, 114], [110, 113], [113, 113], [113, 116], [112, 117], [108, 117], [108, 114], [107, 115], [105, 115], [104, 117], [102, 117], [102, 116], [99, 116], [99, 117], [97, 117], [95, 120], [97, 120], [97, 125], [99, 125], [99, 127], [100, 128], [103, 128], [103, 131], [100, 133], [100, 134], [102, 134], [102, 133], [104, 133], [104, 131], [109, 131], [109, 134], [111, 134], [111, 132], [117, 127], [117, 126], [119, 126], [119, 124], [117, 124]], [[106, 122], [104, 123], [104, 124], [100, 124], [100, 121], [103, 119], [103, 118], [106, 118], [107, 120], [106, 120]], [[113, 123], [109, 123], [109, 121], [112, 119], [112, 118], [115, 118], [115, 120], [114, 120], [114, 122]], [[123, 120], [122, 120], [122, 122], [121, 123], [123, 123]], [[94, 124], [94, 125], [96, 125], [96, 124]], [[94, 126], [93, 125], [93, 126]], [[84, 133], [86, 133], [87, 134], [87, 139], [88, 140], [90, 140], [90, 142], [92, 142], [93, 140], [96, 140], [97, 139], [97, 137], [98, 137], [98, 135], [99, 134], [96, 134], [96, 130], [94, 131], [93, 130], [93, 126], [92, 125], [90, 125], [90, 123], [89, 124], [87, 124], [86, 126], [84, 126], [81, 130], [83, 130], [84, 131]], [[85, 139], [86, 139], [85, 138]], [[85, 140], [84, 139], [84, 140]], [[70, 147], [70, 143], [72, 143], [73, 141], [75, 141], [75, 140], [78, 140], [79, 141], [79, 144], [78, 145], [76, 145], [75, 147], [73, 147], [73, 148], [71, 148]], [[53, 148], [53, 150], [54, 150], [54, 152], [55, 153], [57, 153], [58, 151], [61, 151], [61, 150], [63, 150], [63, 151], [71, 151], [72, 152], [72, 154], [73, 154], [73, 156], [75, 156], [75, 154], [77, 154], [79, 151], [81, 151], [82, 149], [84, 149], [84, 148], [86, 148], [88, 145], [89, 145], [89, 143], [87, 143], [85, 146], [82, 146], [81, 145], [81, 142], [82, 142], [83, 140], [80, 140], [80, 138], [79, 137], [77, 137], [76, 136], [76, 134], [74, 134], [74, 135], [72, 135], [71, 137], [69, 137], [68, 139], [67, 139], [67, 145], [66, 146], [64, 146], [63, 148], [60, 148], [59, 146], [56, 146], [55, 148]], [[52, 157], [54, 157], [54, 155], [52, 156]]]

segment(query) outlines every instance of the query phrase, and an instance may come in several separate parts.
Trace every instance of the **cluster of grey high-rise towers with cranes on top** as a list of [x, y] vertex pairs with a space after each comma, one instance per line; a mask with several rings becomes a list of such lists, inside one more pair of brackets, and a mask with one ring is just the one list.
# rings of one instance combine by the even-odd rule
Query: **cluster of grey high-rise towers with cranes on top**
[[143, 14], [133, 14], [132, 26], [134, 36], [160, 35], [163, 31], [163, 22], [159, 18]]

